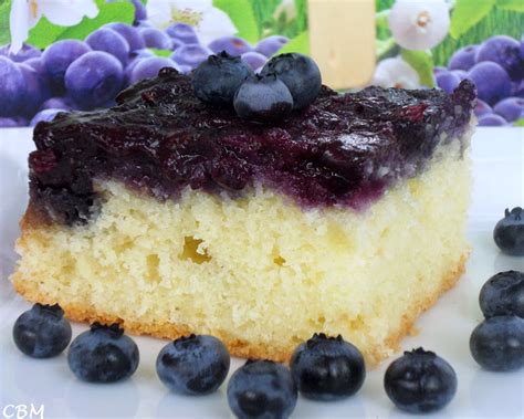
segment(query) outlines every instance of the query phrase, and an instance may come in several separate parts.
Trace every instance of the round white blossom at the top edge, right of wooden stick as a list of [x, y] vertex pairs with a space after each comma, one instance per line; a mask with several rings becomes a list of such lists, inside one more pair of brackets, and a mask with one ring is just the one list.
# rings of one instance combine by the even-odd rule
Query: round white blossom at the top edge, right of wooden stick
[[389, 13], [395, 41], [407, 50], [427, 50], [448, 33], [450, 11], [444, 0], [397, 0]]

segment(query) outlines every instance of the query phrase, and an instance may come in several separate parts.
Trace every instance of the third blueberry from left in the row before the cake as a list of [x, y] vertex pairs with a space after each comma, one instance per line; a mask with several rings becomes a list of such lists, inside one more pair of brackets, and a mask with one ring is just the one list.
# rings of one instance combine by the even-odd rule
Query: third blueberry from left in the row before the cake
[[207, 395], [217, 390], [228, 376], [230, 356], [213, 336], [190, 335], [166, 345], [157, 357], [157, 374], [172, 391]]

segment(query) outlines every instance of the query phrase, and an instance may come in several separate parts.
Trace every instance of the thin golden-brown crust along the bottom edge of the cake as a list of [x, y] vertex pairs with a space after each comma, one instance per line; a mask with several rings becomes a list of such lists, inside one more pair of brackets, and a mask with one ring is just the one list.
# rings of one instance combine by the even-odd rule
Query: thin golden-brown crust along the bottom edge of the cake
[[[401, 339], [408, 335], [412, 328], [415, 321], [418, 316], [431, 307], [441, 294], [450, 290], [464, 272], [465, 262], [468, 254], [463, 254], [457, 266], [452, 266], [449, 273], [442, 281], [441, 287], [432, 295], [428, 295], [423, 301], [419, 302], [411, 312], [404, 315], [404, 321], [400, 327], [391, 333], [384, 346], [367, 350], [364, 355], [369, 366], [376, 366], [387, 356], [385, 349], [398, 350], [400, 347]], [[190, 334], [192, 331], [181, 324], [172, 323], [143, 323], [139, 318], [136, 320], [124, 320], [116, 317], [109, 313], [97, 313], [90, 306], [83, 306], [80, 304], [67, 304], [66, 302], [50, 301], [44, 294], [40, 294], [38, 289], [33, 289], [30, 285], [34, 281], [24, 281], [24, 277], [20, 272], [17, 272], [13, 277], [14, 289], [19, 294], [31, 302], [40, 302], [43, 304], [60, 303], [65, 311], [65, 315], [76, 322], [101, 322], [105, 324], [119, 323], [126, 332], [135, 335], [150, 335], [159, 338], [174, 339], [184, 335]], [[266, 358], [276, 362], [287, 362], [293, 353], [294, 347], [285, 348], [284, 350], [272, 348], [265, 344], [255, 342], [242, 342], [232, 337], [228, 332], [224, 331], [211, 331], [211, 333], [222, 339], [227, 345], [229, 352], [233, 356], [241, 358]]]

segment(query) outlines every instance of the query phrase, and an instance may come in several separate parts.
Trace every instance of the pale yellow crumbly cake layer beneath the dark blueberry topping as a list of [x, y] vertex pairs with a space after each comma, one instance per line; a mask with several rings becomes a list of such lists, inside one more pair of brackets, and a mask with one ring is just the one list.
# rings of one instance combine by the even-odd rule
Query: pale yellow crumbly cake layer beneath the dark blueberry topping
[[314, 332], [342, 334], [375, 364], [462, 271], [470, 170], [459, 153], [444, 146], [361, 212], [304, 210], [263, 187], [160, 202], [99, 182], [90, 224], [22, 223], [12, 280], [74, 320], [212, 334], [234, 355], [277, 360]]

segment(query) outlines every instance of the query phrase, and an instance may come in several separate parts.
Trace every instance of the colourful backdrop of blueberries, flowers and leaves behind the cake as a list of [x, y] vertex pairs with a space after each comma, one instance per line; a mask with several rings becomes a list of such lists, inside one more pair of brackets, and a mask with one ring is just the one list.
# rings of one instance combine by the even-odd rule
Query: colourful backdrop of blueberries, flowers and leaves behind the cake
[[[353, 14], [363, 3], [369, 19]], [[326, 8], [350, 24], [311, 15]], [[255, 71], [284, 52], [313, 52], [323, 70], [338, 54], [336, 83], [323, 75], [339, 90], [452, 92], [469, 78], [481, 126], [522, 127], [523, 32], [523, 0], [0, 0], [0, 127], [112, 106], [159, 69], [190, 73], [222, 50]], [[356, 83], [369, 56], [367, 82]]]

